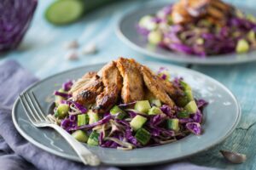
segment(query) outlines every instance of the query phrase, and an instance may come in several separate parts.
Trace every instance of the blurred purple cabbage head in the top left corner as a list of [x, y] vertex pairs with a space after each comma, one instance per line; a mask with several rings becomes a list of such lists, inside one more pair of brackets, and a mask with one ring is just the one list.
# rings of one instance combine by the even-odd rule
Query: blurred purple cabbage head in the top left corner
[[30, 25], [37, 5], [37, 0], [0, 1], [0, 52], [19, 45]]

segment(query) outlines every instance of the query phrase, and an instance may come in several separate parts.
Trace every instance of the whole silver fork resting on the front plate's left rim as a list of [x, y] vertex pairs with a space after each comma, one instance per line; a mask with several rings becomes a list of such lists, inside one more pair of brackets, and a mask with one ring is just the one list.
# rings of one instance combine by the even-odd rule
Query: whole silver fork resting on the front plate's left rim
[[20, 101], [26, 112], [26, 116], [35, 127], [54, 128], [73, 147], [73, 150], [76, 151], [81, 161], [84, 162], [84, 165], [98, 166], [100, 164], [101, 161], [98, 156], [92, 154], [90, 150], [74, 139], [73, 136], [67, 133], [63, 128], [59, 127], [49, 120], [48, 117], [44, 116], [44, 112], [38, 104], [38, 99], [36, 99], [32, 92], [20, 94]]

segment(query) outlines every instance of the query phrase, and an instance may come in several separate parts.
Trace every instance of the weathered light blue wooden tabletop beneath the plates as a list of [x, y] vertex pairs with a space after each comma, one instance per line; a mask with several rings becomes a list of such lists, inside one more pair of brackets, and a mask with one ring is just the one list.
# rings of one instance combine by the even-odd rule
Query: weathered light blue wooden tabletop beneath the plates
[[[125, 1], [111, 4], [106, 8], [95, 11], [71, 26], [51, 26], [44, 20], [44, 10], [51, 0], [38, 2], [32, 26], [26, 34], [20, 47], [0, 57], [0, 63], [6, 59], [15, 59], [21, 65], [32, 71], [37, 77], [49, 77], [60, 71], [65, 71], [80, 65], [91, 65], [98, 62], [108, 62], [119, 56], [137, 60], [155, 60], [138, 54], [120, 42], [114, 33], [119, 17], [144, 3], [161, 3], [160, 1]], [[236, 5], [255, 8], [254, 0], [229, 1]], [[67, 49], [63, 43], [78, 40], [82, 46], [95, 42], [98, 53], [80, 55], [78, 60], [67, 60]], [[81, 49], [78, 49], [78, 53]], [[181, 66], [186, 66], [179, 64]], [[256, 63], [226, 66], [192, 65], [192, 69], [201, 71], [210, 77], [224, 83], [236, 95], [242, 108], [241, 122], [236, 131], [222, 144], [190, 157], [195, 164], [229, 169], [256, 169]], [[225, 114], [225, 113], [223, 113]], [[218, 125], [216, 125], [218, 126]], [[224, 161], [218, 150], [234, 150], [247, 155], [247, 161], [240, 165]]]

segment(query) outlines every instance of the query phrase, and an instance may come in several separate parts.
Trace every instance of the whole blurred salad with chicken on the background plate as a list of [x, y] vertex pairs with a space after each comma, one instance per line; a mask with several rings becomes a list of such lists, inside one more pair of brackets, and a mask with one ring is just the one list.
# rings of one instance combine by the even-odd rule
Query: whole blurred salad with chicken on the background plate
[[221, 0], [180, 0], [143, 16], [137, 31], [151, 44], [199, 57], [256, 48], [256, 18]]

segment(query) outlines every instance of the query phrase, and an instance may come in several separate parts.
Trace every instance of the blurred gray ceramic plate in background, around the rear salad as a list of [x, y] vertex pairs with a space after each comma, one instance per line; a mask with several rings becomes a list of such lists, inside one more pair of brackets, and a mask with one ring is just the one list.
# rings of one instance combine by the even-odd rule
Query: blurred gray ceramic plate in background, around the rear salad
[[[202, 65], [230, 65], [256, 60], [255, 50], [248, 54], [224, 54], [201, 59], [193, 55], [177, 54], [164, 48], [150, 46], [145, 37], [137, 33], [136, 25], [144, 15], [155, 14], [158, 10], [160, 10], [160, 8], [163, 8], [166, 5], [167, 4], [155, 6], [145, 5], [143, 6], [143, 10], [142, 8], [137, 8], [129, 14], [125, 14], [119, 20], [116, 28], [118, 37], [131, 48], [156, 59]], [[242, 11], [246, 11], [247, 14], [254, 14], [256, 16], [256, 10], [254, 9], [239, 8]]]

